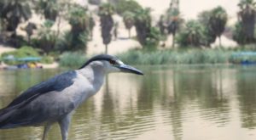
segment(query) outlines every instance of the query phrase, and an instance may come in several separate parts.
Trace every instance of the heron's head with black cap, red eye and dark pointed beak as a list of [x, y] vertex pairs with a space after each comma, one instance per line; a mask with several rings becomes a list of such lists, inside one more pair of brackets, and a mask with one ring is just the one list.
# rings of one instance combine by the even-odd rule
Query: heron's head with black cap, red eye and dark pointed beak
[[102, 69], [106, 70], [108, 73], [112, 72], [125, 72], [125, 73], [132, 73], [137, 75], [143, 75], [141, 70], [137, 70], [136, 68], [124, 64], [121, 60], [117, 59], [108, 54], [100, 54], [96, 55], [95, 57], [89, 59], [80, 69], [83, 69], [86, 66], [95, 66], [101, 67]]

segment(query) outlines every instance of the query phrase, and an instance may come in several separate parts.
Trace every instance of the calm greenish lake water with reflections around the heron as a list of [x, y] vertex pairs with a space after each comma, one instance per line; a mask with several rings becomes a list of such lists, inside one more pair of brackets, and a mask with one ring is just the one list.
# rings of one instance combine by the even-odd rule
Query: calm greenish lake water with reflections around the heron
[[[73, 140], [254, 140], [255, 66], [143, 67], [111, 74], [73, 115]], [[61, 70], [0, 71], [0, 108]], [[39, 140], [42, 127], [0, 130], [1, 140]], [[48, 139], [61, 139], [57, 125]]]

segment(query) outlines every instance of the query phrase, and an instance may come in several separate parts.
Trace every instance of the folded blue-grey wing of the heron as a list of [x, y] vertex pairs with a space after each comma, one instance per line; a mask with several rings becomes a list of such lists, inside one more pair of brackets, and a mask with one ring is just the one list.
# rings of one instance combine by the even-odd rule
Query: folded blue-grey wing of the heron
[[[0, 110], [0, 128], [4, 128], [9, 120], [14, 118], [17, 111], [36, 98], [52, 92], [61, 92], [65, 88], [73, 85], [73, 79], [75, 77], [75, 71], [69, 71], [50, 78], [48, 81], [43, 81], [38, 85], [28, 88], [25, 92], [22, 92], [20, 96], [15, 98], [7, 107]], [[20, 118], [20, 120], [21, 119], [22, 118]]]

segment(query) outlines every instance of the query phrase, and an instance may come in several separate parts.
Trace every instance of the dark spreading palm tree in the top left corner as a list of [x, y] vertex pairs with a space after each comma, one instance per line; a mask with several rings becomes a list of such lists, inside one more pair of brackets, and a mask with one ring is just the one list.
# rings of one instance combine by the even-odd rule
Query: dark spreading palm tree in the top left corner
[[32, 15], [28, 0], [1, 0], [0, 5], [0, 17], [7, 21], [8, 31], [15, 31], [22, 20]]

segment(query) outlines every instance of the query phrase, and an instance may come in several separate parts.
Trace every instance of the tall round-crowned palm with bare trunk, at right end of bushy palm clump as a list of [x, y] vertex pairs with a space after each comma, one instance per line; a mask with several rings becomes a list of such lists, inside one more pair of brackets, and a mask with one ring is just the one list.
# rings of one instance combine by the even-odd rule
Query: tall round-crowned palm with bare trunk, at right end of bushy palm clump
[[213, 8], [211, 11], [209, 26], [211, 28], [212, 33], [215, 36], [218, 36], [219, 46], [221, 46], [221, 35], [224, 32], [225, 25], [228, 20], [228, 14], [222, 7]]

